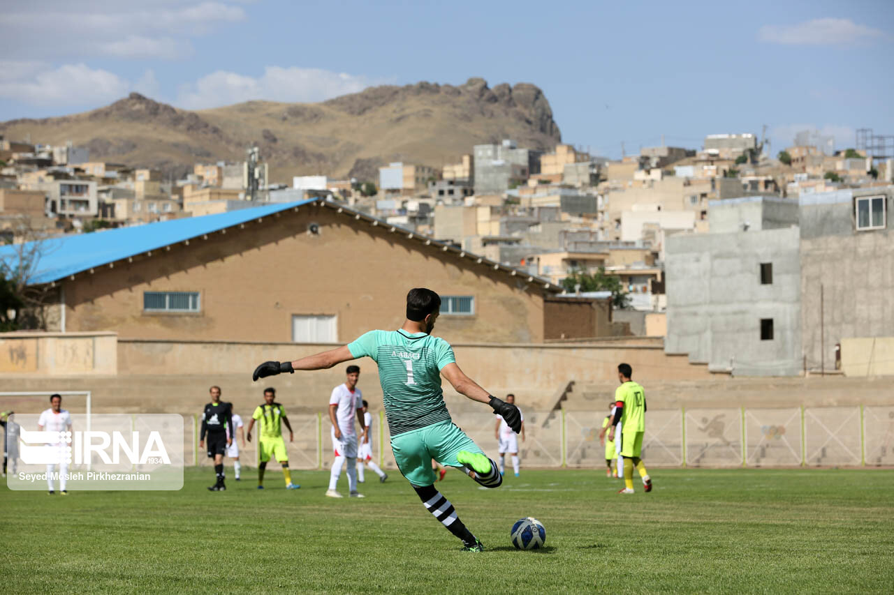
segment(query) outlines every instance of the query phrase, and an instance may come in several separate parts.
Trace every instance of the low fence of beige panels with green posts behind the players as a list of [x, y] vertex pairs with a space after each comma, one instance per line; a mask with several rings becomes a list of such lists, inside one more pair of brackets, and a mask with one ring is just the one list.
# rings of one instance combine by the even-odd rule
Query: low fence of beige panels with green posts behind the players
[[[601, 467], [604, 412], [523, 409], [525, 437], [519, 436], [522, 465]], [[375, 459], [394, 468], [384, 415], [376, 415]], [[325, 415], [290, 415], [295, 440], [286, 442], [290, 466], [322, 469], [332, 460]], [[496, 422], [483, 411], [460, 411], [453, 421], [492, 457]], [[208, 465], [198, 451], [198, 421], [185, 432], [184, 457]], [[286, 437], [288, 440], [288, 436]], [[257, 439], [256, 439], [257, 440]], [[255, 443], [241, 448], [243, 463], [255, 463]], [[894, 406], [693, 407], [646, 414], [643, 457], [656, 467], [792, 467], [894, 465]]]

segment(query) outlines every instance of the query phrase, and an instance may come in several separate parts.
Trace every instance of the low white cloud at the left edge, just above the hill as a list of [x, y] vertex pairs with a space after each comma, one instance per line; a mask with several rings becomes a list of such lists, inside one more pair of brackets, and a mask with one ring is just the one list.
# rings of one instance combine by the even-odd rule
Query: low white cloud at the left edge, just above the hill
[[[9, 68], [9, 70], [5, 70]], [[45, 63], [0, 63], [0, 97], [34, 105], [101, 105], [127, 95], [136, 88], [157, 91], [153, 71], [134, 85], [118, 75], [92, 69], [84, 63], [52, 68]], [[14, 76], [8, 76], [13, 72]]]

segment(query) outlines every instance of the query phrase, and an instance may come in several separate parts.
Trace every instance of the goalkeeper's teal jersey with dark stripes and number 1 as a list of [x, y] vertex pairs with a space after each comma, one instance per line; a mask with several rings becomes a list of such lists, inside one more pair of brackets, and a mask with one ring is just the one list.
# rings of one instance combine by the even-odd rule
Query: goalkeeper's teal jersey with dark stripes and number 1
[[450, 421], [441, 390], [441, 369], [456, 361], [444, 339], [425, 332], [369, 331], [348, 344], [350, 355], [379, 366], [385, 415], [392, 436]]

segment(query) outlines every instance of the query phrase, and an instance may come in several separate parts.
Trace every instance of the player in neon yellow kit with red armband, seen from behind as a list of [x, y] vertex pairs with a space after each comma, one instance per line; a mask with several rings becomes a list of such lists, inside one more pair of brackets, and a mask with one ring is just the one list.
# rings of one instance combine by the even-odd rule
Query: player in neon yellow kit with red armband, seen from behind
[[614, 440], [615, 427], [620, 422], [620, 456], [627, 459], [624, 462], [624, 489], [618, 492], [620, 494], [633, 493], [633, 467], [637, 467], [643, 478], [645, 491], [652, 491], [652, 479], [640, 458], [645, 433], [645, 390], [637, 382], [630, 380], [632, 374], [630, 365], [618, 366], [620, 387], [615, 390], [615, 415], [609, 430], [609, 440]]

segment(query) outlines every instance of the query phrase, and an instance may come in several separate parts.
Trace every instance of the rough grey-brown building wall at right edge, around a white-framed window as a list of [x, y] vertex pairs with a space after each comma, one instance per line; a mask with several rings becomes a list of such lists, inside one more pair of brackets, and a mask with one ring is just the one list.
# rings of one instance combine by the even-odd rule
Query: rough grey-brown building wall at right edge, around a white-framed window
[[[879, 195], [887, 229], [857, 231], [856, 197]], [[808, 368], [830, 370], [842, 339], [894, 335], [894, 188], [839, 190], [800, 203], [802, 340]]]

